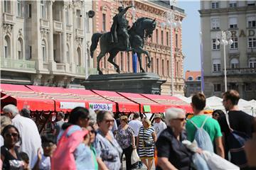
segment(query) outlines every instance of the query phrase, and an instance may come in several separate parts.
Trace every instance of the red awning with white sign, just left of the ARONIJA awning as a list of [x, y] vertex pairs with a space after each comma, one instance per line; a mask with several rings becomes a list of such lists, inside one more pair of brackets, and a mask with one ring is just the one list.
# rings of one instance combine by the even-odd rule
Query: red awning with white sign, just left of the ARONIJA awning
[[55, 101], [55, 111], [68, 111], [70, 112], [73, 108], [86, 106], [86, 101], [80, 99], [74, 94], [68, 93], [65, 89], [60, 87], [49, 87], [49, 86], [27, 86], [29, 89], [38, 92], [46, 98], [51, 98]]

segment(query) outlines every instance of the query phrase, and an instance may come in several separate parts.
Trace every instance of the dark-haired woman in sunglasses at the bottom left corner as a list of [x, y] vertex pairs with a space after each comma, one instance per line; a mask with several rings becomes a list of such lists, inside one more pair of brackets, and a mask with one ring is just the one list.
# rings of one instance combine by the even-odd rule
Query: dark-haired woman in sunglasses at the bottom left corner
[[23, 162], [16, 147], [16, 143], [21, 141], [18, 129], [14, 125], [7, 125], [1, 135], [4, 137], [4, 146], [1, 147], [2, 169], [23, 169]]

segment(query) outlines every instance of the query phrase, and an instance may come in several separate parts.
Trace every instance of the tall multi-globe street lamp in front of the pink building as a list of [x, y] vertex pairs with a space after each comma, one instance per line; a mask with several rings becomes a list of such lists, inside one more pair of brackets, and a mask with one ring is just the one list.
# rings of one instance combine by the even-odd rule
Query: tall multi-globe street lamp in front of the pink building
[[161, 28], [164, 27], [169, 27], [170, 28], [170, 36], [171, 36], [171, 96], [174, 96], [174, 57], [173, 57], [173, 47], [172, 47], [172, 42], [173, 42], [173, 38], [172, 38], [172, 32], [173, 32], [173, 28], [181, 28], [181, 21], [178, 19], [178, 21], [176, 21], [176, 16], [174, 11], [164, 11], [164, 13], [162, 14], [163, 18], [165, 19], [165, 22], [160, 23]]

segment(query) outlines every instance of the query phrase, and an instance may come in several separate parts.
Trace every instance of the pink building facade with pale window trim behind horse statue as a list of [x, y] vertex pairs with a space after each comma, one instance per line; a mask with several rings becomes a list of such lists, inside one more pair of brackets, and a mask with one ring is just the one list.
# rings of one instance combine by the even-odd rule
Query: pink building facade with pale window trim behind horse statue
[[[117, 0], [100, 0], [92, 1], [95, 17], [93, 18], [93, 32], [105, 33], [110, 31], [112, 26], [112, 18], [118, 13], [119, 6], [130, 6], [132, 1], [117, 1]], [[146, 72], [154, 72], [159, 74], [161, 79], [166, 80], [161, 86], [161, 94], [171, 94], [171, 69], [174, 70], [174, 94], [183, 95], [183, 59], [182, 54], [182, 28], [170, 30], [168, 27], [161, 28], [162, 22], [166, 22], [163, 13], [174, 6], [161, 1], [134, 1], [136, 13], [134, 16], [135, 21], [140, 17], [156, 18], [157, 26], [154, 30], [152, 38], [145, 40], [144, 48], [149, 51], [151, 57], [151, 68], [146, 67], [146, 56], [142, 55], [142, 63]], [[181, 21], [186, 16], [181, 8], [174, 9], [176, 18]], [[132, 26], [133, 12], [131, 9], [127, 11], [126, 17], [129, 21], [129, 26]], [[173, 66], [171, 67], [171, 38], [170, 31], [172, 31], [172, 52], [174, 56]], [[131, 52], [130, 52], [131, 53]], [[94, 54], [94, 67], [97, 65], [96, 57], [100, 54], [100, 47], [98, 45]], [[107, 55], [102, 58], [100, 66], [104, 74], [116, 73], [112, 64], [107, 62]], [[116, 62], [121, 73], [133, 72], [132, 71], [132, 54], [127, 55], [127, 52], [119, 52], [115, 57]], [[139, 68], [139, 66], [138, 66]], [[137, 69], [139, 70], [139, 69]]]

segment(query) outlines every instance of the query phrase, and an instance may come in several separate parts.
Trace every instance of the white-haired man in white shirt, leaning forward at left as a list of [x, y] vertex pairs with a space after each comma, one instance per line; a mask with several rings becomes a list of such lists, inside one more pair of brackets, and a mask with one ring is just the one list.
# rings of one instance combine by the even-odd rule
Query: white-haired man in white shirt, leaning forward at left
[[18, 129], [21, 135], [21, 151], [28, 154], [30, 167], [33, 169], [38, 159], [38, 149], [41, 148], [41, 137], [36, 123], [30, 118], [21, 116], [14, 105], [4, 106], [3, 112], [11, 118], [12, 124]]

